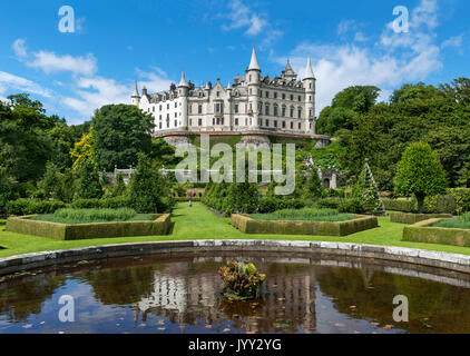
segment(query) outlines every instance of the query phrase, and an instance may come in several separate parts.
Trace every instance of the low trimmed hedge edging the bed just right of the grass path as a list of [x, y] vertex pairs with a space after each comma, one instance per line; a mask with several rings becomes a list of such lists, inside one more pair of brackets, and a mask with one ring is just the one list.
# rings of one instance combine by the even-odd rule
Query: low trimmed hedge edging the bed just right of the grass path
[[374, 216], [358, 216], [354, 220], [320, 221], [262, 221], [246, 215], [232, 215], [232, 226], [244, 234], [347, 236], [379, 227]]

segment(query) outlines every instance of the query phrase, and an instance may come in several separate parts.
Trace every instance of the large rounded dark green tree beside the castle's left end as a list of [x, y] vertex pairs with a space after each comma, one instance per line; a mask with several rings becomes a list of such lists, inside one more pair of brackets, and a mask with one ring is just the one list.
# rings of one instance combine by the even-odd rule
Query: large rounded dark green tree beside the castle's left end
[[137, 154], [151, 147], [154, 118], [130, 105], [108, 105], [92, 120], [96, 161], [101, 170], [136, 166]]

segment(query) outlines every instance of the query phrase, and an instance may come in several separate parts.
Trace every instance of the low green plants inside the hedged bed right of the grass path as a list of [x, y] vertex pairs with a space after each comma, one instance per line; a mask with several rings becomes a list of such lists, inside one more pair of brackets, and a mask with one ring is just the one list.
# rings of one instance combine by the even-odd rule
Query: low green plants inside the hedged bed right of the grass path
[[271, 214], [253, 214], [255, 220], [275, 221], [347, 221], [355, 217], [350, 214], [339, 214], [336, 209], [283, 209]]

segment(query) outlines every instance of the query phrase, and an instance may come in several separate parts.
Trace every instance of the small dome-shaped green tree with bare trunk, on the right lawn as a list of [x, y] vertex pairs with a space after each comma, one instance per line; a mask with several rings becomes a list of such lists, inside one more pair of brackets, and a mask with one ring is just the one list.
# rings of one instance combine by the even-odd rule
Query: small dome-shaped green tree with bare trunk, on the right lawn
[[411, 144], [405, 149], [394, 182], [398, 194], [415, 196], [419, 214], [423, 211], [427, 196], [443, 194], [447, 188], [445, 172], [438, 156], [423, 142]]

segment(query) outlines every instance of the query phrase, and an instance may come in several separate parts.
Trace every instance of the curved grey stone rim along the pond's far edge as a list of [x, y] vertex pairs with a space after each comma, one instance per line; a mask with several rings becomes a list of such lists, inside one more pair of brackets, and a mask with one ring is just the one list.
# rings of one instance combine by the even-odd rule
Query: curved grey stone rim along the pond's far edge
[[[0, 259], [0, 276], [27, 270], [114, 257], [178, 254], [178, 253], [284, 253], [342, 257], [362, 257], [401, 261], [470, 274], [470, 256], [413, 248], [324, 241], [285, 240], [187, 240], [150, 241], [92, 246], [42, 251]], [[288, 257], [288, 255], [286, 256]]]

